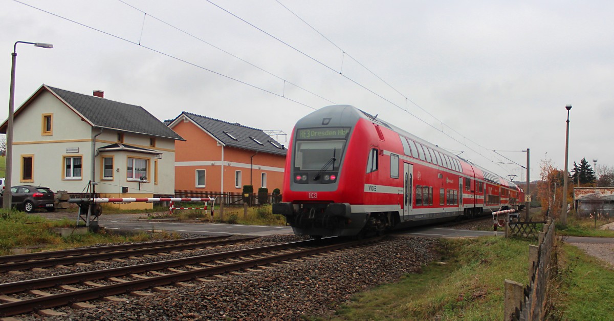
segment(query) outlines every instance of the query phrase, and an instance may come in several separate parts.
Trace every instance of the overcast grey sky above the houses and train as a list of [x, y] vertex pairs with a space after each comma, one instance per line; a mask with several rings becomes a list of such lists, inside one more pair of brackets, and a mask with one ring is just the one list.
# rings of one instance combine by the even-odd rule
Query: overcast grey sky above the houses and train
[[0, 6], [2, 119], [15, 41], [49, 42], [54, 49], [18, 45], [15, 108], [41, 84], [100, 89], [160, 120], [188, 111], [283, 130], [288, 137], [278, 140], [287, 144], [295, 122], [313, 109], [349, 104], [516, 180], [522, 169], [495, 164], [508, 160], [492, 150], [524, 165], [520, 151], [530, 148], [534, 180], [541, 159], [564, 165], [570, 104], [569, 166], [582, 157], [614, 165], [612, 1]]

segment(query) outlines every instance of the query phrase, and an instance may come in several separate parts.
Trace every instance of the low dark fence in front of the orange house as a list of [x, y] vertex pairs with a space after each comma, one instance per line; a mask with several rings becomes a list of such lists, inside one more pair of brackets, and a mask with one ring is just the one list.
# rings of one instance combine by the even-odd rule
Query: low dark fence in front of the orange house
[[[247, 195], [247, 196], [246, 196]], [[242, 207], [243, 203], [250, 206], [259, 206], [281, 202], [281, 194], [273, 193], [242, 193], [242, 192], [211, 192], [211, 191], [190, 191], [187, 189], [176, 189], [175, 197], [212, 197], [216, 199], [215, 205]], [[204, 202], [203, 202], [204, 203]], [[211, 202], [209, 202], [211, 204]]]

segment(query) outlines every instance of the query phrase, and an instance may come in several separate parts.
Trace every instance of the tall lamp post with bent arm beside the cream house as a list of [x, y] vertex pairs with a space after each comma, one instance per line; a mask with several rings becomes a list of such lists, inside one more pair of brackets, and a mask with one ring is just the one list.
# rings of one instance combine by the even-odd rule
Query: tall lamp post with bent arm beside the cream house
[[9, 121], [6, 127], [6, 178], [4, 180], [4, 198], [2, 199], [2, 208], [7, 209], [11, 207], [10, 187], [12, 186], [13, 109], [15, 106], [15, 61], [17, 60], [17, 44], [33, 44], [34, 47], [53, 48], [52, 44], [26, 41], [17, 41], [15, 42], [15, 46], [13, 46], [13, 53], [11, 54], [13, 59], [10, 65]]

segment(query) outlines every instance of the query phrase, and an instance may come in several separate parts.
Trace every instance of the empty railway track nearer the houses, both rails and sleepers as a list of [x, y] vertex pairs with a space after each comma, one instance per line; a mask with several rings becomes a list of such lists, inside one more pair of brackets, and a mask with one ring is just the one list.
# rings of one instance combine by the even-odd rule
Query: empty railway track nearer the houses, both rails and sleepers
[[241, 239], [230, 239], [229, 237], [230, 236], [198, 237], [194, 239], [165, 240], [158, 242], [109, 245], [106, 247], [90, 247], [73, 250], [0, 256], [0, 272], [22, 271], [37, 267], [44, 268], [50, 266], [66, 266], [66, 264], [112, 260], [114, 258], [128, 258], [157, 253], [195, 250], [198, 248], [234, 244], [257, 238], [243, 237]]

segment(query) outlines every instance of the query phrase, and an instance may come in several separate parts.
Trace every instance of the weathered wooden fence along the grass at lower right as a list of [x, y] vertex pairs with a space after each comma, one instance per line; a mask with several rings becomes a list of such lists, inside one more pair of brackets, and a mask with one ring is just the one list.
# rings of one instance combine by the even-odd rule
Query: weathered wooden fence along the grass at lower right
[[505, 320], [543, 320], [548, 301], [548, 280], [556, 261], [554, 221], [538, 232], [538, 245], [529, 245], [529, 284], [505, 280]]

